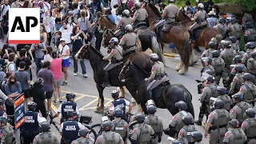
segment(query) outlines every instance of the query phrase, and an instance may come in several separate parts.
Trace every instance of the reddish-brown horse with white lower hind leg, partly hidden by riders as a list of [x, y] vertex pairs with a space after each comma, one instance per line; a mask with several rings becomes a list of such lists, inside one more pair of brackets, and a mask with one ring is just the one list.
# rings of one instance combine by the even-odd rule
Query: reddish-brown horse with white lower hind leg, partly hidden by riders
[[[154, 25], [160, 20], [161, 14], [151, 3], [146, 2], [142, 7], [146, 9], [149, 15], [150, 28], [154, 31]], [[169, 33], [159, 31], [159, 38], [162, 47], [164, 43], [174, 43], [182, 59], [182, 62], [179, 62], [175, 69], [178, 70], [178, 74], [185, 74], [189, 67], [191, 53], [189, 43], [190, 34], [186, 28], [184, 26], [173, 26]]]

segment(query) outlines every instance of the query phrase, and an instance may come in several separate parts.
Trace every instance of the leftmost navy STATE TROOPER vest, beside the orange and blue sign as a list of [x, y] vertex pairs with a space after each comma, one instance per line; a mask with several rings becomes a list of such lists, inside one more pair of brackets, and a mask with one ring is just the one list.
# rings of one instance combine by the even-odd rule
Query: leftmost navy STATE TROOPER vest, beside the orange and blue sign
[[25, 113], [25, 122], [24, 122], [24, 130], [26, 132], [35, 132], [39, 130], [38, 124], [38, 112], [35, 111], [27, 111]]

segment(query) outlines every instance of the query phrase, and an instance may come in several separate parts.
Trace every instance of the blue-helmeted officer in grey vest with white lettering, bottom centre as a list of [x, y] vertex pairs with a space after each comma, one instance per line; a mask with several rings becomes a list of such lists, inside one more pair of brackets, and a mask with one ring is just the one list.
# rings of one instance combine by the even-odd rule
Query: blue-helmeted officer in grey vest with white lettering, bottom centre
[[123, 142], [127, 143], [127, 138], [129, 134], [129, 125], [123, 120], [123, 111], [121, 108], [117, 107], [114, 109], [114, 120], [112, 121], [111, 131], [121, 135]]

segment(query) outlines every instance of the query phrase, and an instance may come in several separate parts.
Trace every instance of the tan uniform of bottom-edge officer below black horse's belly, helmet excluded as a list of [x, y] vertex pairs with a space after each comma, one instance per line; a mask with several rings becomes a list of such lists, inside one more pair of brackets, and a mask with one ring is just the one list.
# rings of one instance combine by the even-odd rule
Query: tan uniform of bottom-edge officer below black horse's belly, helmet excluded
[[138, 144], [146, 144], [151, 140], [151, 136], [154, 135], [154, 130], [150, 125], [145, 123], [138, 124], [134, 130], [132, 130], [132, 134], [130, 134], [130, 138], [134, 141], [137, 141]]

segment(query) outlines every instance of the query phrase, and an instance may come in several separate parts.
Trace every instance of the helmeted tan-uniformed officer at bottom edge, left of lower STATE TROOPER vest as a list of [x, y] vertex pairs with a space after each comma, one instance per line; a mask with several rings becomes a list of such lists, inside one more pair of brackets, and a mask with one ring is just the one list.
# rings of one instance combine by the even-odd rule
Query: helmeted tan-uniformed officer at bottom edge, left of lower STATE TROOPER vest
[[34, 137], [33, 144], [59, 144], [58, 138], [50, 132], [49, 122], [40, 124], [41, 133]]

